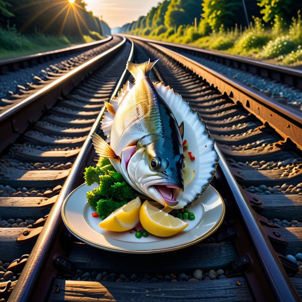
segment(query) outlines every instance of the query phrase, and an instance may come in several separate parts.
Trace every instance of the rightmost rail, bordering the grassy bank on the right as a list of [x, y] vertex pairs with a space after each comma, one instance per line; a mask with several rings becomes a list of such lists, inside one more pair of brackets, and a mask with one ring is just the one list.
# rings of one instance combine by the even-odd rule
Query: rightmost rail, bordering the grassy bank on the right
[[291, 86], [297, 86], [298, 88], [302, 89], [302, 70], [299, 69], [261, 62], [239, 55], [232, 55], [214, 50], [205, 50], [194, 46], [162, 42], [126, 34], [122, 34], [121, 36], [141, 40], [147, 43], [156, 43], [158, 45], [173, 48], [173, 50], [185, 50], [186, 52], [198, 55], [205, 59], [219, 62], [226, 66], [233, 66], [234, 68], [249, 71], [253, 74], [268, 77], [273, 80], [278, 80], [282, 83], [289, 84]]

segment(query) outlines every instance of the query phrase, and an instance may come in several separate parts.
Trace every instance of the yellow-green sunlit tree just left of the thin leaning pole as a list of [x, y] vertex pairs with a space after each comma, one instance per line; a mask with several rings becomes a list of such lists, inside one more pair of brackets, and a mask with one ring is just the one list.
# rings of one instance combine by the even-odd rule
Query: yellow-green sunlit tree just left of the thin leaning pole
[[221, 25], [225, 28], [234, 26], [237, 22], [241, 0], [203, 0], [202, 22], [206, 22], [212, 31], [218, 31]]

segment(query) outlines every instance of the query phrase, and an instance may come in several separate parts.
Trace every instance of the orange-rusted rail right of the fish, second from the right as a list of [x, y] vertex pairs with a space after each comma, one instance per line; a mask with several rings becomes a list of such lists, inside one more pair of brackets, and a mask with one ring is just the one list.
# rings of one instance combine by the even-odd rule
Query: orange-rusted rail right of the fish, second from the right
[[259, 94], [239, 81], [213, 71], [191, 58], [154, 43], [150, 45], [198, 74], [222, 94], [226, 93], [235, 103], [241, 103], [263, 124], [268, 123], [284, 139], [289, 138], [302, 150], [302, 114], [300, 112]]

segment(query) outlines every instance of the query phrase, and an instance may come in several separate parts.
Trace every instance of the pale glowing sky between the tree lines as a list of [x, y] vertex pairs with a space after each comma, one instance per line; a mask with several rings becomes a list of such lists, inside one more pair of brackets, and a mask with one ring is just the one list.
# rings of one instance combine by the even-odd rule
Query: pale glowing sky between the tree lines
[[85, 2], [88, 11], [92, 10], [97, 17], [102, 16], [109, 27], [114, 28], [146, 15], [159, 0], [85, 0]]

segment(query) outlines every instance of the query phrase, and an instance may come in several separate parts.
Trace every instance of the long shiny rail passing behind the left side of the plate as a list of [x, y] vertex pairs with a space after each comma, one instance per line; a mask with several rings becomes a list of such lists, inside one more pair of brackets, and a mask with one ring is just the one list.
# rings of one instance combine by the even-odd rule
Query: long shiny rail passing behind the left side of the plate
[[[125, 40], [123, 41], [125, 43]], [[131, 42], [132, 47], [130, 50], [130, 54], [128, 60], [132, 60], [134, 55], [134, 47]], [[120, 77], [118, 84], [112, 93], [112, 97], [116, 96], [119, 89], [122, 87], [124, 82], [126, 81], [128, 76], [126, 76], [126, 69], [124, 70], [122, 76]], [[18, 282], [10, 295], [8, 302], [24, 302], [29, 301], [31, 296], [33, 295], [33, 291], [35, 290], [35, 284], [39, 281], [39, 276], [43, 271], [42, 265], [47, 261], [49, 252], [52, 248], [52, 244], [59, 233], [60, 227], [63, 225], [62, 217], [61, 217], [61, 209], [64, 200], [68, 196], [68, 194], [75, 188], [79, 179], [82, 178], [84, 168], [86, 167], [86, 157], [87, 154], [93, 150], [93, 146], [91, 143], [91, 136], [94, 132], [98, 130], [100, 127], [100, 121], [102, 115], [105, 111], [105, 107], [102, 108], [99, 113], [96, 121], [94, 122], [90, 133], [88, 134], [81, 151], [79, 152], [74, 165], [68, 175], [63, 188], [58, 195], [58, 199], [53, 205], [50, 214], [48, 216], [47, 222], [44, 225], [41, 234], [30, 253], [30, 256], [26, 262], [26, 265], [18, 279]], [[47, 294], [46, 292], [44, 293]], [[41, 297], [41, 301], [44, 298]]]

